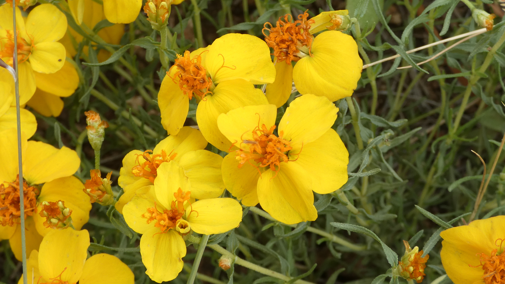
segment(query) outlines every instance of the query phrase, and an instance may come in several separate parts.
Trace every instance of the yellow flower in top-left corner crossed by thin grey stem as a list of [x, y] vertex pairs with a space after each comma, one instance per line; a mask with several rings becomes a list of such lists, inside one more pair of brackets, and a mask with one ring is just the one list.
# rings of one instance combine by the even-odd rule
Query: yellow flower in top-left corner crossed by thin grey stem
[[[33, 96], [38, 81], [36, 73], [55, 73], [65, 64], [65, 46], [57, 42], [67, 30], [67, 18], [54, 5], [42, 4], [35, 7], [26, 21], [16, 8], [18, 34], [19, 96], [21, 105]], [[14, 54], [14, 32], [12, 8], [0, 6], [0, 58], [12, 66]], [[14, 80], [7, 70], [0, 68], [0, 80], [11, 84], [14, 96]], [[16, 102], [13, 102], [15, 106]]]

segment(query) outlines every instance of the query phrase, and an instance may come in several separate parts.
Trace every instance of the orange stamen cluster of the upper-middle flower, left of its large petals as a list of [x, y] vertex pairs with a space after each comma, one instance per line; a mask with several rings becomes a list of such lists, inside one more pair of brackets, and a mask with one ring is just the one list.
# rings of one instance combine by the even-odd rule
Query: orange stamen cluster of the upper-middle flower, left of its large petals
[[196, 55], [191, 59], [189, 51], [185, 51], [184, 56], [178, 54], [167, 75], [170, 76], [173, 68], [176, 72], [170, 78], [174, 83], [179, 84], [179, 88], [188, 96], [189, 100], [193, 98], [193, 93], [200, 98], [204, 98], [207, 93], [211, 92], [209, 87], [212, 86], [212, 80], [207, 77], [207, 71], [201, 65], [201, 55]]

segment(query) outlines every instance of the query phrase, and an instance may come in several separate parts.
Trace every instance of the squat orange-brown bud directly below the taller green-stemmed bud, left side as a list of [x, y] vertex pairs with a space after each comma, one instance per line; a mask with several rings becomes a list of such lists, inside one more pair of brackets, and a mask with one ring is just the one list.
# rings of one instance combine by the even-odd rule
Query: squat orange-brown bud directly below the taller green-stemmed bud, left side
[[114, 193], [111, 188], [112, 172], [107, 174], [106, 178], [102, 178], [100, 170], [90, 170], [91, 179], [87, 179], [82, 190], [90, 198], [91, 203], [100, 205], [111, 205], [114, 202]]

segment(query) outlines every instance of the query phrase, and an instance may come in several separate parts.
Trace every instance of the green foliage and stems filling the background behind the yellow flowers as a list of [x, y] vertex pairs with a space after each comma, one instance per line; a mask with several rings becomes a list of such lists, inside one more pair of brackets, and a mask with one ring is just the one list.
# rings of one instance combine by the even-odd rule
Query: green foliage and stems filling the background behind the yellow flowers
[[[197, 28], [193, 25], [195, 10], [200, 13], [207, 45], [228, 32], [263, 38], [263, 24], [275, 22], [288, 11], [297, 15], [308, 10], [315, 16], [322, 11], [347, 8], [350, 16], [359, 18], [361, 31], [355, 26], [347, 33], [357, 38], [364, 63], [438, 40], [442, 38], [442, 31], [446, 31], [443, 35], [446, 38], [479, 28], [468, 7], [459, 0], [196, 0], [193, 3], [197, 3], [197, 9], [190, 1], [172, 7], [168, 26], [174, 37], [168, 43], [167, 52], [172, 60], [176, 53], [198, 47]], [[500, 105], [505, 100], [502, 48], [491, 55], [492, 61], [484, 72], [479, 70], [491, 46], [504, 32], [503, 11], [490, 0], [477, 0], [476, 6], [497, 15], [493, 31], [459, 44], [437, 60], [422, 65], [427, 73], [414, 68], [395, 68], [410, 65], [412, 60], [423, 61], [441, 51], [443, 44], [368, 68], [363, 71], [352, 96], [354, 106], [348, 106], [345, 99], [335, 102], [340, 111], [333, 128], [348, 148], [348, 172], [355, 174], [341, 191], [326, 196], [315, 194], [319, 211], [316, 221], [292, 228], [249, 211], [237, 229], [213, 235], [209, 242], [220, 243], [230, 252], [262, 267], [290, 276], [302, 275], [304, 280], [314, 283], [371, 283], [377, 275], [387, 274], [391, 267], [380, 244], [369, 236], [338, 230], [330, 222], [358, 224], [375, 232], [399, 255], [404, 252], [402, 240], [411, 240], [412, 246], [429, 251], [424, 282], [433, 282], [445, 274], [438, 236], [439, 225], [443, 223], [429, 220], [415, 205], [441, 220], [463, 224], [459, 216], [472, 212], [483, 172], [481, 162], [470, 150], [479, 153], [489, 169], [505, 129], [505, 114]], [[72, 25], [73, 20], [68, 20]], [[102, 21], [95, 29], [107, 25]], [[77, 173], [82, 180], [89, 178], [89, 170], [94, 165], [93, 150], [85, 135], [85, 110], [97, 111], [110, 124], [102, 148], [102, 172], [112, 171], [114, 184], [126, 153], [153, 149], [166, 137], [156, 102], [165, 73], [158, 55], [159, 34], [150, 28], [143, 12], [126, 29], [121, 45], [134, 44], [126, 48], [121, 60], [100, 67], [84, 64], [97, 62], [95, 52], [89, 50], [87, 56], [82, 54], [83, 46], [89, 44], [85, 37], [74, 58], [82, 73], [80, 86], [73, 96], [64, 99], [62, 115], [47, 118], [34, 112], [39, 125], [34, 139], [76, 149], [82, 159]], [[97, 47], [104, 48], [99, 44]], [[113, 46], [115, 50], [119, 47]], [[469, 102], [462, 104], [469, 80], [475, 76], [481, 79], [471, 84]], [[288, 103], [279, 108], [279, 119], [297, 94], [293, 92]], [[357, 117], [351, 116], [349, 107], [355, 108]], [[455, 125], [460, 108], [465, 111], [461, 123]], [[185, 125], [196, 125], [195, 109], [196, 102], [192, 102]], [[358, 143], [353, 123], [359, 126], [363, 147]], [[208, 150], [219, 152], [212, 146]], [[498, 160], [479, 208], [479, 218], [505, 211], [502, 203], [505, 174], [499, 174], [503, 170], [503, 158]], [[117, 185], [113, 189], [121, 192]], [[139, 236], [126, 226], [120, 214], [107, 211], [108, 208], [93, 204], [89, 223], [83, 227], [90, 231], [96, 243], [90, 246], [89, 253], [115, 254], [134, 271], [136, 283], [149, 283], [138, 253]], [[348, 240], [358, 245], [359, 250], [309, 232], [309, 226]], [[0, 281], [16, 283], [21, 275], [21, 263], [10, 252], [8, 241], [0, 243], [0, 250], [3, 251]], [[190, 245], [183, 259], [184, 269], [173, 283], [185, 282], [195, 253], [196, 249]], [[212, 277], [213, 283], [284, 282], [238, 265], [234, 271], [225, 272], [217, 265], [219, 257], [220, 254], [207, 249], [198, 270]], [[308, 271], [312, 272], [305, 275]], [[231, 273], [233, 277], [229, 277]], [[198, 278], [196, 281], [201, 282], [201, 277]], [[384, 278], [385, 275], [373, 282], [382, 283]], [[442, 283], [450, 280], [444, 278]]]

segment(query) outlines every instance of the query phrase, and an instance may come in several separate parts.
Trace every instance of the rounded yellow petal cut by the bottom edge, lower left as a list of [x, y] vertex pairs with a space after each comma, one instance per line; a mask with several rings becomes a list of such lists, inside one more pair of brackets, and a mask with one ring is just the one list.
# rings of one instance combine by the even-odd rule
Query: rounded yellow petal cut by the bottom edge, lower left
[[[104, 273], [104, 264], [108, 273]], [[110, 254], [95, 254], [84, 263], [79, 284], [134, 284], [134, 278], [131, 269], [119, 258]]]

